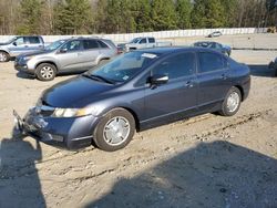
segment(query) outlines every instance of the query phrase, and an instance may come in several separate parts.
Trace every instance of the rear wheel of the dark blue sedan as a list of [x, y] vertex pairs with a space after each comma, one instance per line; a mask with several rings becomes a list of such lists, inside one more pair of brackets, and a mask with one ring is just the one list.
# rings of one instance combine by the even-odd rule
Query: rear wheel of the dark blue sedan
[[[229, 98], [233, 98], [233, 102], [229, 102], [228, 104]], [[218, 113], [223, 116], [233, 116], [238, 112], [240, 103], [242, 103], [242, 93], [237, 87], [233, 86], [226, 94], [225, 100], [222, 104], [222, 110]]]

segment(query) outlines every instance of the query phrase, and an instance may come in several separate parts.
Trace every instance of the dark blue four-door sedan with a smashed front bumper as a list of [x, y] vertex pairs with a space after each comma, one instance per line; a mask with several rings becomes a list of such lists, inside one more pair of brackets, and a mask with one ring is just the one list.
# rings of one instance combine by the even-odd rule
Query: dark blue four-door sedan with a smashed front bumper
[[44, 91], [19, 128], [69, 148], [126, 146], [135, 131], [207, 112], [232, 116], [248, 96], [249, 69], [202, 48], [132, 51]]

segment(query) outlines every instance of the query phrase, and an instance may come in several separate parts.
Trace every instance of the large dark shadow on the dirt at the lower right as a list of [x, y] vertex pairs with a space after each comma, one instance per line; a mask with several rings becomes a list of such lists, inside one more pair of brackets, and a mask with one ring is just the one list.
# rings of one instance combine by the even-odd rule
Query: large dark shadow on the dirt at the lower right
[[276, 176], [274, 158], [228, 142], [201, 143], [120, 179], [85, 207], [276, 207]]

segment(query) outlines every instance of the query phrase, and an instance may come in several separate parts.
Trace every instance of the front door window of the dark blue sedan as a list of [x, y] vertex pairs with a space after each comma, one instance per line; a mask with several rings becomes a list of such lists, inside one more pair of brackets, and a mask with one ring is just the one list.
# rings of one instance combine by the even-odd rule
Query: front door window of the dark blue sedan
[[194, 53], [182, 53], [171, 56], [155, 66], [153, 74], [167, 75], [170, 79], [178, 79], [192, 75], [195, 67]]

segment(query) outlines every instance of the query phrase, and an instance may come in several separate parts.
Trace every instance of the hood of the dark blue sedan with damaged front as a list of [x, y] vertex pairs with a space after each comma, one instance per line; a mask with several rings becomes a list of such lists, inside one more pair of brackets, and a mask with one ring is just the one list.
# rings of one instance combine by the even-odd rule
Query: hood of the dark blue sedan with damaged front
[[115, 85], [98, 82], [82, 75], [53, 85], [44, 91], [42, 102], [52, 107], [79, 108], [99, 101]]

